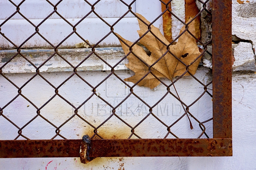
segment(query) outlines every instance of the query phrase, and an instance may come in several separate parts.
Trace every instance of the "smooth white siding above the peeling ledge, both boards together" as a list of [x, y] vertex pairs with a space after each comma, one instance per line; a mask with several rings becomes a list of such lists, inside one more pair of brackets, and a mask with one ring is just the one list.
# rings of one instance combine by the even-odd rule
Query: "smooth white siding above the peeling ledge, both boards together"
[[[20, 1], [17, 0], [14, 2], [18, 4]], [[52, 0], [51, 2], [56, 4], [58, 1]], [[90, 0], [89, 2], [93, 4], [96, 1]], [[130, 4], [132, 0], [124, 0], [124, 2]], [[151, 22], [161, 13], [160, 5], [159, 1], [139, 0], [134, 2], [131, 7], [133, 12], [140, 13]], [[155, 8], [155, 6], [158, 6], [159, 8]], [[6, 18], [16, 11], [16, 7], [7, 0], [0, 1], [0, 7], [1, 24]], [[73, 26], [91, 10], [91, 6], [82, 0], [62, 1], [57, 8], [57, 11], [71, 24], [73, 24]], [[27, 0], [20, 6], [20, 12], [30, 19], [30, 21], [36, 26], [53, 10], [54, 8], [44, 0]], [[126, 11], [128, 11], [128, 7], [117, 0], [102, 0], [95, 5], [95, 12], [111, 25], [114, 24], [119, 17], [124, 15]], [[161, 25], [161, 18], [154, 23], [154, 26], [159, 27], [160, 29], [162, 29]], [[73, 28], [55, 13], [38, 28], [39, 33], [55, 46], [73, 32]], [[135, 41], [139, 38], [136, 31], [139, 29], [138, 21], [132, 13], [128, 13], [125, 18], [121, 19], [121, 21], [119, 21], [113, 28], [114, 32], [118, 33], [123, 38], [129, 39], [130, 41]], [[94, 13], [91, 13], [80, 24], [78, 24], [76, 31], [85, 40], [89, 40], [91, 44], [96, 44], [105, 35], [107, 35], [111, 29]], [[19, 46], [35, 32], [35, 27], [33, 27], [32, 24], [27, 22], [19, 14], [16, 14], [1, 27], [1, 32]], [[82, 40], [77, 35], [73, 34], [65, 40], [61, 46], [75, 46], [75, 44], [79, 42], [82, 42]], [[119, 44], [120, 42], [116, 36], [111, 34], [101, 41], [99, 45], [110, 46]], [[49, 46], [50, 45], [37, 34], [23, 45], [25, 48]], [[0, 35], [0, 47], [8, 48], [13, 47], [13, 45]]]

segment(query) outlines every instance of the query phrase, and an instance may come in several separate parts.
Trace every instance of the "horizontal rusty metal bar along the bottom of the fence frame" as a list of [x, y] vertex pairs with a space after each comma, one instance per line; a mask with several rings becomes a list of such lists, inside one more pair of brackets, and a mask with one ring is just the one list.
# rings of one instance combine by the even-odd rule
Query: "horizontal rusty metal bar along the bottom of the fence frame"
[[[82, 140], [2, 140], [0, 158], [80, 157]], [[90, 157], [232, 156], [232, 139], [91, 140]]]

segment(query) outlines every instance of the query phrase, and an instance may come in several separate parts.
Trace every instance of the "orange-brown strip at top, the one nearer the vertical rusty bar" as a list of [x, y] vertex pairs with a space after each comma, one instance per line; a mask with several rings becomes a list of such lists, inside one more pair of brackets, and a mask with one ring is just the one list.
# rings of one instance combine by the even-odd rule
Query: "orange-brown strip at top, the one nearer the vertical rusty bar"
[[[190, 17], [194, 18], [200, 10], [196, 5], [196, 0], [185, 0], [185, 22], [189, 20]], [[201, 38], [201, 29], [200, 29], [200, 15], [195, 19], [195, 29], [196, 37]]]

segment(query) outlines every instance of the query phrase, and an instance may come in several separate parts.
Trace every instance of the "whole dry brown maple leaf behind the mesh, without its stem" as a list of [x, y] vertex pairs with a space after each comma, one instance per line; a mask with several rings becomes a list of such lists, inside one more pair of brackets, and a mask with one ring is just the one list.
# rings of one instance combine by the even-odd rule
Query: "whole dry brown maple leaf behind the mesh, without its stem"
[[[148, 20], [146, 20], [142, 15], [136, 13], [138, 17], [140, 17], [146, 24], [150, 24]], [[191, 21], [191, 19], [189, 20]], [[189, 22], [188, 21], [188, 22]], [[139, 36], [142, 36], [148, 31], [148, 26], [144, 24], [140, 19], [138, 19], [140, 30], [138, 30]], [[188, 71], [193, 75], [196, 73], [198, 64], [202, 58], [198, 57], [201, 52], [197, 47], [196, 40], [190, 35], [187, 31], [183, 33], [180, 38], [178, 38], [178, 42], [175, 45], [170, 46], [170, 52], [173, 53], [177, 58], [179, 58], [183, 63], [177, 60], [176, 57], [172, 56], [171, 53], [167, 51], [167, 46], [169, 42], [166, 38], [161, 34], [160, 30], [153, 25], [151, 27], [151, 32], [148, 32], [145, 36], [140, 39], [140, 43], [143, 44], [150, 52], [151, 55], [148, 56], [144, 49], [138, 45], [134, 45], [132, 47], [132, 51], [135, 55], [137, 55], [141, 60], [145, 63], [152, 65], [160, 57], [163, 57], [153, 66], [152, 73], [155, 74], [158, 78], [166, 77], [169, 80], [176, 76], [180, 76], [186, 72], [186, 65], [189, 65]], [[186, 29], [186, 26], [183, 26], [180, 30], [180, 34]], [[192, 21], [188, 25], [188, 30], [195, 35], [195, 27], [194, 21]], [[123, 39], [120, 35], [118, 35], [120, 39], [126, 42], [129, 46], [133, 43]], [[156, 37], [158, 37], [158, 39]], [[160, 41], [161, 40], [161, 41]], [[123, 47], [124, 53], [127, 55], [130, 50], [127, 45], [125, 45], [121, 40], [121, 45]], [[137, 57], [135, 57], [132, 53], [128, 55], [129, 63], [126, 66], [135, 72], [133, 77], [124, 79], [125, 81], [131, 81], [133, 83], [137, 83], [146, 73], [148, 73], [148, 67], [141, 62]], [[192, 64], [191, 64], [192, 63]], [[190, 75], [186, 73], [185, 75]], [[153, 89], [157, 85], [159, 85], [159, 81], [151, 74], [148, 74], [140, 83], [139, 86], [146, 86]]]

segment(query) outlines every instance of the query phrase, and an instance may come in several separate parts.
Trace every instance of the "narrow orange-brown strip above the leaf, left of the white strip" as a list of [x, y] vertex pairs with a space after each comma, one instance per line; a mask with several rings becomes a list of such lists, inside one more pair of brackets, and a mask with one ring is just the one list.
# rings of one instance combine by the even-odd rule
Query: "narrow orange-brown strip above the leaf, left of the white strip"
[[[167, 4], [169, 0], [163, 0]], [[171, 3], [168, 5], [169, 10], [171, 11]], [[166, 10], [166, 6], [161, 3], [162, 12]], [[163, 19], [163, 30], [164, 30], [164, 36], [165, 38], [171, 42], [172, 41], [172, 20], [171, 20], [171, 13], [169, 11], [166, 11], [164, 15], [162, 15]]]

